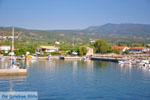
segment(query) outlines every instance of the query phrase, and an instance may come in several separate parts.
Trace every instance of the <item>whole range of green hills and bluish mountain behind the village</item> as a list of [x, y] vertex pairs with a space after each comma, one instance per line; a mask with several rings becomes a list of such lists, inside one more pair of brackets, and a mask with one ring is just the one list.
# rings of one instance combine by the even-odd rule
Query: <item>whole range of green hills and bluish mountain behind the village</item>
[[[10, 41], [11, 27], [0, 27], [0, 41]], [[15, 40], [19, 42], [72, 42], [88, 43], [99, 38], [107, 42], [150, 42], [150, 25], [105, 24], [83, 30], [30, 30], [15, 28]]]

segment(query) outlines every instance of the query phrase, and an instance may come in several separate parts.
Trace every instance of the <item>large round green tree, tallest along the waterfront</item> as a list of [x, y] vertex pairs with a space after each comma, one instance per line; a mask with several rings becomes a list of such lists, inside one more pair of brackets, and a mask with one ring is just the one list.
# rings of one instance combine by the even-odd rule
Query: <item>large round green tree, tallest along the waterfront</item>
[[96, 53], [105, 53], [107, 51], [107, 42], [105, 40], [97, 40], [94, 43]]

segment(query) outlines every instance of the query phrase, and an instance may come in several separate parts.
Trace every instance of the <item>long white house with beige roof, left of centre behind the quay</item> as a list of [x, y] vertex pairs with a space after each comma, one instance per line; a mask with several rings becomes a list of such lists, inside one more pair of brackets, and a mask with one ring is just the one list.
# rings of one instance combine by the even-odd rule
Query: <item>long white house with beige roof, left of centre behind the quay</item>
[[38, 52], [55, 52], [58, 51], [59, 47], [57, 46], [38, 46]]

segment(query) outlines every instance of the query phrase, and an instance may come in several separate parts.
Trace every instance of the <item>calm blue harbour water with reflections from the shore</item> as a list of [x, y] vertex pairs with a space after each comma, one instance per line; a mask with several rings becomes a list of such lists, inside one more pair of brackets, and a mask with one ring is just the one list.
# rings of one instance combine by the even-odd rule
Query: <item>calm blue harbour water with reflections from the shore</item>
[[0, 91], [37, 91], [40, 100], [150, 100], [147, 69], [63, 60], [27, 61], [26, 66], [27, 76], [0, 77]]

